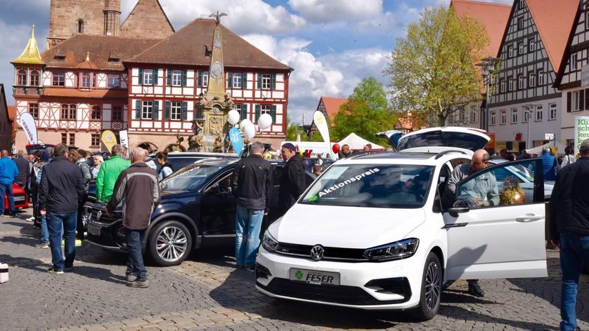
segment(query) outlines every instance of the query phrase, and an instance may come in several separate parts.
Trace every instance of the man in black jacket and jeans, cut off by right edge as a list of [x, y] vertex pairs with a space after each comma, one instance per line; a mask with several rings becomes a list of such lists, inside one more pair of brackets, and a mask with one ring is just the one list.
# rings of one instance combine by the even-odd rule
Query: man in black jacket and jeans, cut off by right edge
[[562, 168], [550, 197], [550, 239], [559, 245], [562, 269], [561, 330], [579, 330], [574, 313], [581, 263], [589, 265], [589, 139], [581, 159]]

